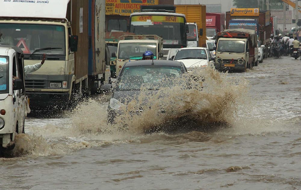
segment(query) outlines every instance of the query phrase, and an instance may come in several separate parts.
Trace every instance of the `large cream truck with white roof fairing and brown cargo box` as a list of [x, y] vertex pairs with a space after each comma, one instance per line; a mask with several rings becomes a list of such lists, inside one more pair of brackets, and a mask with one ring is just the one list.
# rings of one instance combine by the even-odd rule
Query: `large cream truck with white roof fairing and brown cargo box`
[[65, 107], [72, 89], [81, 91], [88, 82], [88, 1], [33, 2], [0, 2], [0, 31], [6, 45], [23, 50], [25, 65], [46, 54], [42, 67], [25, 75], [31, 107]]

